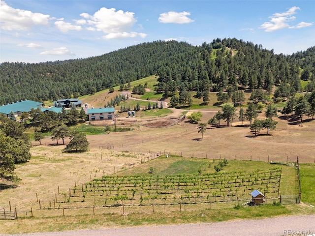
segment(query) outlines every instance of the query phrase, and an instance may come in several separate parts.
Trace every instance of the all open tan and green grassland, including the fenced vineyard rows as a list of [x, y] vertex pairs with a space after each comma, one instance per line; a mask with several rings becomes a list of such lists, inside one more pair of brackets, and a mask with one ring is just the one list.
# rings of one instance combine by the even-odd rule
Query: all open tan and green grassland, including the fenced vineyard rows
[[[148, 83], [148, 92], [136, 97], [161, 99], [160, 94], [153, 92], [156, 79], [152, 76], [132, 82], [132, 86]], [[103, 107], [121, 93], [118, 89], [80, 99], [94, 107]], [[248, 98], [246, 94], [246, 101]], [[141, 101], [141, 104], [147, 102]], [[200, 122], [207, 122], [220, 110], [214, 106], [215, 93], [210, 94], [208, 106], [200, 105], [200, 99], [194, 98], [193, 103], [195, 111], [202, 112]], [[122, 104], [134, 106], [136, 100], [128, 99]], [[141, 111], [136, 118], [174, 114], [178, 117], [188, 110]], [[221, 127], [208, 127], [202, 139], [197, 125], [184, 119], [168, 128], [118, 122], [117, 132], [112, 130], [109, 134], [103, 126], [80, 124], [74, 128], [87, 134], [90, 142], [90, 150], [85, 153], [63, 153], [64, 146], [56, 145], [49, 137], [42, 145], [33, 142], [32, 159], [16, 166], [21, 181], [0, 182], [0, 206], [7, 210], [10, 204], [18, 211], [17, 220], [1, 221], [0, 232], [16, 234], [314, 214], [315, 209], [310, 205], [315, 205], [315, 121], [307, 120], [300, 127], [278, 115], [276, 130], [269, 135], [262, 130], [256, 137], [248, 127], [249, 121], [241, 125], [235, 119], [232, 127], [226, 127], [224, 121]], [[259, 118], [264, 118], [264, 111]], [[119, 132], [118, 128], [126, 127], [130, 131]], [[297, 170], [292, 166], [297, 156], [301, 163], [302, 203], [280, 205], [280, 194], [298, 194]], [[223, 159], [228, 164], [218, 174], [214, 166]], [[271, 161], [289, 166], [272, 165]], [[179, 177], [183, 178], [178, 180]], [[243, 206], [255, 188], [266, 191], [268, 198], [275, 201]], [[25, 213], [31, 207], [33, 217]]]

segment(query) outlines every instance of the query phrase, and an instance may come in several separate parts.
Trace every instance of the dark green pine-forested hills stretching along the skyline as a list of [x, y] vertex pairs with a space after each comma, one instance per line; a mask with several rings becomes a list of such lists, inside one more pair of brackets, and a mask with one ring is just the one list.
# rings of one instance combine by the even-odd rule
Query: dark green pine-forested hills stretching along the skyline
[[21, 99], [56, 100], [85, 95], [157, 74], [158, 92], [265, 89], [289, 96], [315, 89], [315, 47], [291, 56], [275, 55], [262, 45], [216, 39], [201, 46], [155, 41], [98, 57], [44, 63], [0, 64], [0, 104]]

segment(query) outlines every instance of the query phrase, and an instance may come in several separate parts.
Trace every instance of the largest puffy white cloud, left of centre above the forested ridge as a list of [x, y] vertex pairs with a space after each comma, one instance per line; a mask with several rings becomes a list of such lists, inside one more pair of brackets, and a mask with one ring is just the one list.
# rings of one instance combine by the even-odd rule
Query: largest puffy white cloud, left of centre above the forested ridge
[[136, 23], [133, 12], [116, 11], [115, 8], [102, 7], [94, 15], [82, 13], [80, 16], [84, 19], [76, 21], [77, 24], [80, 22], [82, 25], [88, 26], [87, 30], [106, 33], [103, 36], [105, 39], [134, 38], [137, 36], [143, 38], [147, 36], [145, 33], [128, 32]]

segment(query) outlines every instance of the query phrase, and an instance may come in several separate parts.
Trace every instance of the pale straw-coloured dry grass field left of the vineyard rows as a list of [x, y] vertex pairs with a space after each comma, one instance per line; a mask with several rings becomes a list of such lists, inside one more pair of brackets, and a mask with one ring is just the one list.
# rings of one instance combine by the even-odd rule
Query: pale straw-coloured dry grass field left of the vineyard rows
[[61, 193], [66, 192], [75, 183], [85, 183], [91, 177], [113, 174], [114, 170], [125, 169], [125, 165], [130, 168], [132, 163], [139, 165], [141, 158], [149, 155], [98, 148], [85, 153], [63, 153], [63, 148], [63, 145], [33, 147], [32, 159], [16, 166], [15, 172], [21, 182], [1, 190], [0, 206], [8, 206], [10, 201], [18, 210], [39, 208], [36, 193], [39, 200], [53, 200], [58, 186]]

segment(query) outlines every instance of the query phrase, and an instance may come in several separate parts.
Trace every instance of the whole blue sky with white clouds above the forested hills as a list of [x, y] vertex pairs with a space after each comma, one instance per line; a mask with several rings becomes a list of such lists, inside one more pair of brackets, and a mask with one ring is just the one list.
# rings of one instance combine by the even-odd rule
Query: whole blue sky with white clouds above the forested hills
[[156, 40], [315, 46], [314, 0], [0, 0], [0, 62], [88, 58]]

